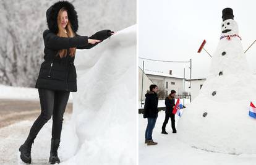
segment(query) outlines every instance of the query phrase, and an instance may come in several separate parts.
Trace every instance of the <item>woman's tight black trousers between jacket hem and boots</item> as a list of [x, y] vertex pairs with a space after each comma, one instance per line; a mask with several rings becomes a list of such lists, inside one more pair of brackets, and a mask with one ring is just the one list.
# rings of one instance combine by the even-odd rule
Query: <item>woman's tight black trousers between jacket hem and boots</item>
[[38, 89], [41, 114], [32, 125], [29, 133], [30, 138], [35, 138], [43, 125], [53, 116], [53, 128], [51, 136], [53, 139], [61, 138], [61, 129], [63, 114], [65, 112], [69, 91], [54, 91], [47, 89]]

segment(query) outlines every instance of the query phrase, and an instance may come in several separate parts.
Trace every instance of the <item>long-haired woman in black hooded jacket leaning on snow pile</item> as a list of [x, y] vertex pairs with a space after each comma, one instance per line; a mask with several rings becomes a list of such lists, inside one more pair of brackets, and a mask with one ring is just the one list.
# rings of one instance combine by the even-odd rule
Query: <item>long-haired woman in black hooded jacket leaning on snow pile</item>
[[77, 35], [78, 19], [74, 6], [59, 1], [46, 11], [48, 30], [43, 32], [45, 56], [35, 87], [38, 88], [41, 114], [33, 123], [25, 143], [20, 146], [20, 158], [31, 163], [31, 148], [36, 135], [53, 116], [49, 163], [60, 163], [58, 148], [61, 139], [63, 114], [69, 93], [77, 91], [74, 59], [76, 49], [90, 49], [113, 35], [101, 30], [90, 37]]

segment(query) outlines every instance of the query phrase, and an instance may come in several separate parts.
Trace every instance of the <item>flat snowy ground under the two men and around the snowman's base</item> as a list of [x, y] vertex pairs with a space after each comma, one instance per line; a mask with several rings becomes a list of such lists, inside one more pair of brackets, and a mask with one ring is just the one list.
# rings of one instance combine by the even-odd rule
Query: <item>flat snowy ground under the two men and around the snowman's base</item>
[[[168, 135], [161, 134], [161, 127], [164, 121], [164, 112], [158, 114], [155, 129], [153, 130], [153, 140], [158, 145], [145, 145], [145, 129], [147, 119], [143, 119], [143, 114], [139, 115], [139, 164], [140, 165], [252, 165], [256, 162], [256, 154], [222, 154], [192, 148], [186, 143], [179, 141], [177, 134], [171, 133], [171, 121], [166, 125]], [[179, 117], [176, 116], [176, 125]], [[252, 139], [255, 139], [253, 137]], [[251, 140], [252, 140], [251, 139]]]

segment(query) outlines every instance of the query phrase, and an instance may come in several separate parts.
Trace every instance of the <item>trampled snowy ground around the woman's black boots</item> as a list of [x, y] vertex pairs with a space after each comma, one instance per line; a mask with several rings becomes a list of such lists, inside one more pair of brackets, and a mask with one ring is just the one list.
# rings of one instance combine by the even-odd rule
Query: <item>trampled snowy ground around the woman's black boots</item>
[[[62, 136], [67, 136], [67, 129], [69, 129], [70, 114], [64, 114], [64, 127], [62, 130]], [[27, 138], [30, 127], [34, 121], [22, 121], [15, 124], [3, 127], [0, 129], [0, 164], [1, 165], [12, 165], [12, 164], [24, 164], [20, 160], [19, 146], [22, 145], [24, 140]], [[32, 163], [33, 164], [49, 164], [49, 151], [51, 146], [51, 124], [49, 121], [45, 124], [43, 129], [40, 130], [38, 136], [32, 145]], [[63, 143], [70, 143], [72, 140]], [[62, 147], [59, 148], [59, 157], [62, 161], [67, 159], [68, 153]]]

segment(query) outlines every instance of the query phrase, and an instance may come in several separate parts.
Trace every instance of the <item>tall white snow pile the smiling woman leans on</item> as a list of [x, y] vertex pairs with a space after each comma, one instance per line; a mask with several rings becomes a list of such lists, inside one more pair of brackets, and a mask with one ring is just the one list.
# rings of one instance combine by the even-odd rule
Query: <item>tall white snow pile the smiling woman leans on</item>
[[62, 135], [63, 164], [135, 164], [136, 26], [75, 59], [78, 91]]

